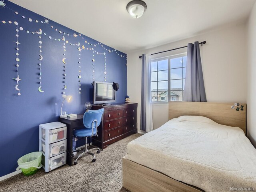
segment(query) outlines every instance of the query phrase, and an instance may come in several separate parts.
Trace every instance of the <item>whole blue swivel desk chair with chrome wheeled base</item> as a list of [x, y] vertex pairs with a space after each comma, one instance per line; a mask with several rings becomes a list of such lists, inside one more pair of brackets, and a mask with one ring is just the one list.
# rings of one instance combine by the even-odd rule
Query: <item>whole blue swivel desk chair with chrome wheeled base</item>
[[92, 136], [98, 136], [98, 126], [100, 125], [101, 119], [102, 119], [102, 114], [104, 112], [104, 109], [99, 109], [99, 110], [87, 110], [84, 113], [83, 117], [83, 123], [85, 128], [83, 129], [78, 129], [73, 131], [73, 135], [76, 137], [85, 137], [85, 146], [84, 146], [84, 152], [80, 154], [75, 162], [74, 165], [77, 164], [77, 160], [83, 155], [83, 154], [90, 154], [93, 156], [92, 162], [96, 161], [96, 157], [93, 153], [90, 151], [92, 150], [98, 150], [97, 153], [100, 153], [100, 148], [93, 148], [88, 150], [87, 148], [87, 137], [92, 137]]

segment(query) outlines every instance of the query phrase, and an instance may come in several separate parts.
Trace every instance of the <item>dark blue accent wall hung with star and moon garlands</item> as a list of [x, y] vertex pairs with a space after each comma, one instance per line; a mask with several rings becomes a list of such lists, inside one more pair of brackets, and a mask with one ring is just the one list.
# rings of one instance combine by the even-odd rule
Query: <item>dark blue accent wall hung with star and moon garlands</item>
[[[41, 21], [44, 22], [43, 16], [12, 2], [5, 0], [4, 3], [6, 6], [0, 6], [0, 176], [14, 172], [18, 167], [18, 158], [24, 154], [38, 151], [39, 124], [58, 121], [63, 92], [73, 96], [72, 102], [64, 103], [63, 111], [75, 114], [84, 113], [84, 103], [93, 100], [92, 82], [94, 80], [92, 78], [102, 82], [105, 79], [106, 82], [118, 82], [120, 89], [116, 92], [117, 103], [124, 102], [127, 94], [126, 54], [52, 20], [49, 20], [49, 24], [41, 23]], [[31, 22], [29, 18], [32, 19]], [[18, 22], [19, 29], [18, 73], [19, 78], [22, 79], [18, 82], [20, 96], [15, 89], [17, 82], [12, 79], [17, 77], [15, 60], [17, 58], [15, 43], [17, 25], [14, 21]], [[23, 30], [20, 30], [20, 27]], [[36, 33], [39, 29], [42, 29], [41, 35]], [[77, 38], [72, 36], [74, 33], [78, 34]], [[63, 35], [65, 41], [61, 40]], [[102, 36], [104, 36], [103, 31]], [[43, 56], [41, 76], [39, 75], [40, 40]], [[78, 42], [80, 46], [76, 45]], [[79, 52], [78, 48], [82, 48], [82, 45], [85, 49]], [[63, 46], [66, 47], [65, 56]], [[81, 68], [78, 64], [79, 57]], [[62, 62], [63, 58], [66, 58], [66, 68]], [[92, 62], [93, 58], [95, 62]], [[104, 75], [105, 59], [106, 75]], [[81, 79], [78, 78], [79, 70], [81, 70]], [[39, 77], [41, 77], [41, 84], [39, 84]], [[67, 86], [66, 90], [63, 89], [64, 84]], [[38, 91], [40, 85], [44, 92]]]

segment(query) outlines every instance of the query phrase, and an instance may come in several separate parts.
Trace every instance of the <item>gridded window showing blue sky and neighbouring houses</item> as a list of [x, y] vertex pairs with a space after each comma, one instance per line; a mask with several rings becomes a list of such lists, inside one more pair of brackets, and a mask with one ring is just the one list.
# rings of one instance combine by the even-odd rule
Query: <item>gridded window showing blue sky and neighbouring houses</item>
[[183, 54], [151, 61], [151, 96], [154, 96], [152, 101], [183, 100], [186, 60], [187, 56]]

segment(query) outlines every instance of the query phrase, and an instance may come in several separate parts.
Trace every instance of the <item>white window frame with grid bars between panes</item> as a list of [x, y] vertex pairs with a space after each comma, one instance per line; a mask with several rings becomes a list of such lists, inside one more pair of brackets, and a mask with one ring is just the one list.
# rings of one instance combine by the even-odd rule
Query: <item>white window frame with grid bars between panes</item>
[[[175, 54], [175, 55], [171, 55], [171, 56], [166, 56], [166, 57], [161, 57], [161, 58], [154, 58], [154, 59], [152, 59], [151, 60], [151, 63], [152, 62], [158, 62], [158, 61], [162, 61], [162, 60], [166, 60], [166, 59], [168, 59], [168, 100], [167, 100], [167, 102], [166, 102], [166, 100], [165, 101], [152, 101], [151, 100], [151, 102], [152, 103], [168, 103], [169, 101], [171, 101], [171, 95], [170, 95], [170, 91], [171, 91], [171, 69], [179, 69], [179, 68], [181, 68], [182, 69], [182, 78], [181, 79], [173, 79], [173, 80], [182, 80], [182, 91], [181, 91], [181, 97], [182, 97], [182, 101], [183, 101], [183, 94], [184, 94], [184, 90], [183, 90], [183, 81], [186, 79], [186, 77], [185, 78], [183, 78], [183, 65], [181, 66], [181, 67], [177, 67], [177, 68], [171, 68], [171, 59], [175, 59], [175, 58], [179, 58], [179, 57], [184, 57], [184, 56], [187, 56], [187, 52], [184, 52], [184, 53], [181, 53], [181, 54]], [[150, 70], [151, 70], [151, 63], [150, 63]], [[183, 64], [183, 62], [182, 62], [182, 64]], [[186, 67], [187, 67], [187, 65], [186, 65]], [[159, 71], [166, 71], [166, 70], [159, 70]], [[156, 68], [156, 71], [153, 71], [153, 72], [157, 72], [156, 73], [156, 80], [157, 81], [151, 81], [150, 82], [150, 84], [152, 83], [152, 82], [156, 82], [157, 84], [156, 84], [156, 89], [157, 89], [157, 93], [158, 93], [158, 82], [161, 82], [161, 81], [166, 81], [166, 80], [160, 80], [160, 81], [158, 81], [158, 66], [157, 66], [157, 68]], [[150, 73], [150, 76], [151, 76], [151, 74], [152, 74], [152, 71], [151, 71], [151, 73]], [[150, 78], [151, 79], [151, 78]], [[152, 95], [152, 92], [153, 91], [151, 91], [151, 95]], [[177, 101], [177, 100], [176, 100]]]

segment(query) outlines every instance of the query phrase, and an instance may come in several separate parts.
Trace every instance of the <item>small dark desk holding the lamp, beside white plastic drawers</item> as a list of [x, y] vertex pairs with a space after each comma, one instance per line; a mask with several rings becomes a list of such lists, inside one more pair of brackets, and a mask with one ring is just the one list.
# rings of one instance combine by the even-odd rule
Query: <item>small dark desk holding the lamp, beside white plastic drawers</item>
[[67, 125], [67, 164], [69, 166], [73, 164], [73, 130], [84, 128], [83, 116], [84, 114], [77, 115], [76, 117], [59, 118], [59, 122]]

